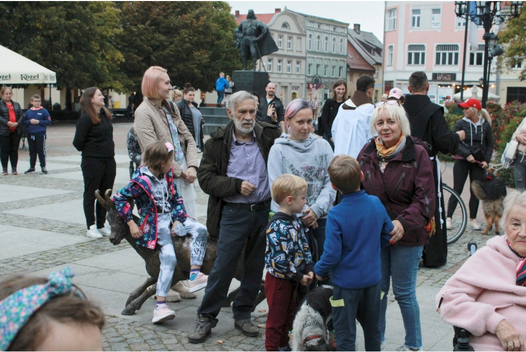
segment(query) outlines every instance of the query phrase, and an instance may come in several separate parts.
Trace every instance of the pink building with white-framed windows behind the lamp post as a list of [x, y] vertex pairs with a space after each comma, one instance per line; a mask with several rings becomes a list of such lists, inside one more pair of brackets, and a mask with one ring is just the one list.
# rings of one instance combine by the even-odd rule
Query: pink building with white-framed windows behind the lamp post
[[[452, 99], [454, 93], [460, 92], [465, 28], [466, 21], [455, 14], [454, 2], [387, 1], [383, 41], [385, 92], [399, 87], [404, 94], [409, 93], [411, 73], [424, 71], [430, 83], [431, 101], [443, 104]], [[477, 51], [472, 52], [468, 42], [464, 87], [480, 86], [483, 34], [480, 26]], [[495, 93], [494, 83], [493, 74], [491, 93]]]

